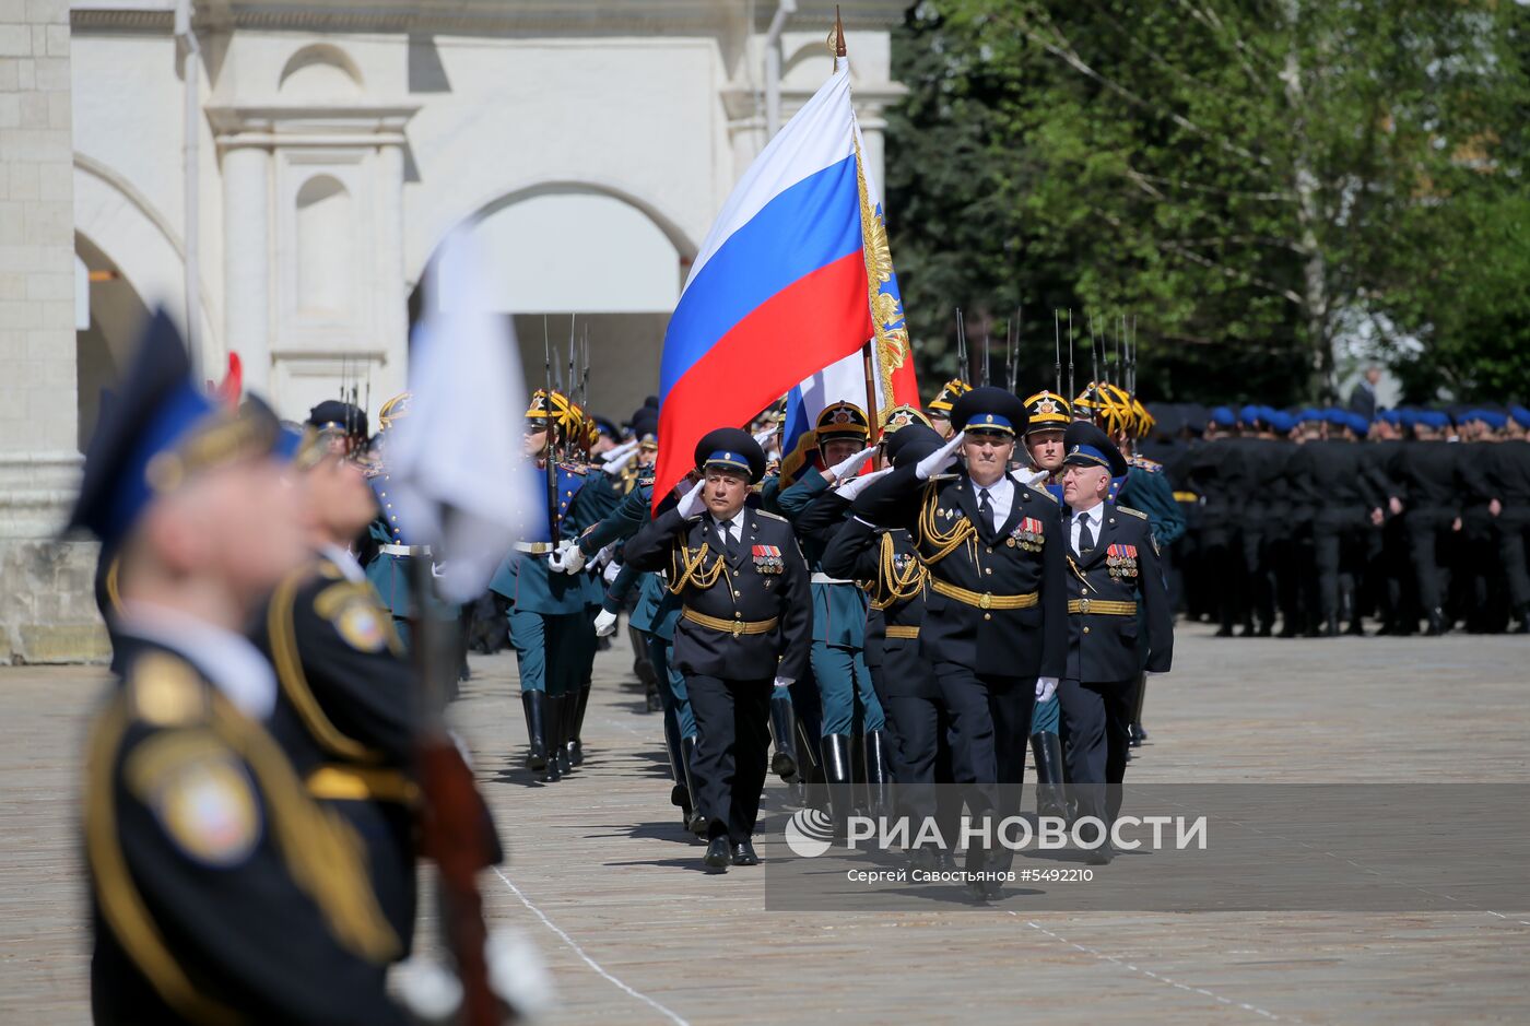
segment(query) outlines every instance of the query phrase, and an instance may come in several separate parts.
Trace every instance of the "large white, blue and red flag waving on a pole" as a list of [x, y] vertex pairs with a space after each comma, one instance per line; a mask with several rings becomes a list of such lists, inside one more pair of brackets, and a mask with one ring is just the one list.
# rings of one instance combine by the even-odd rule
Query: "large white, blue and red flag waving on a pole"
[[707, 431], [747, 425], [872, 338], [855, 142], [842, 60], [718, 214], [664, 335], [655, 505]]

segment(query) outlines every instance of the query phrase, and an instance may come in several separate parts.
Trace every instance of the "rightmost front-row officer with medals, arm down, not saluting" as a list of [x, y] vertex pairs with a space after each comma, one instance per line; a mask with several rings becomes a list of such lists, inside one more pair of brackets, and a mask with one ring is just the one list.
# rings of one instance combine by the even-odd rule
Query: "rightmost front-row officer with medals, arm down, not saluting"
[[[1126, 459], [1092, 424], [1071, 425], [1066, 446], [1068, 674], [1057, 694], [1079, 815], [1099, 817], [1108, 829], [1120, 812], [1131, 746], [1141, 667], [1138, 612], [1146, 613], [1149, 673], [1169, 671], [1174, 616], [1148, 515], [1105, 502], [1111, 479], [1126, 472]], [[1100, 784], [1114, 784], [1108, 797]], [[1109, 862], [1112, 855], [1102, 838], [1089, 861]]]

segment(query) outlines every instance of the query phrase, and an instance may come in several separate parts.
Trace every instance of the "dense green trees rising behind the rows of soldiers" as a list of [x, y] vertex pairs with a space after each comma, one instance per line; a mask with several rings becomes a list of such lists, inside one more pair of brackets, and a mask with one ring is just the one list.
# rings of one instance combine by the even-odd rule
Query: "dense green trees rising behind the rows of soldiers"
[[1424, 358], [1398, 349], [1412, 369], [1475, 382], [1470, 339], [1521, 303], [1507, 269], [1463, 275], [1483, 217], [1513, 248], [1524, 18], [1487, 0], [920, 3], [887, 147], [916, 350], [949, 372], [953, 304], [985, 323], [1025, 300], [1028, 338], [1054, 306], [1135, 315], [1154, 396], [1331, 394], [1336, 341], [1365, 321], [1423, 339]]

